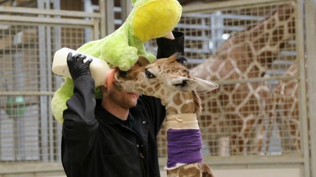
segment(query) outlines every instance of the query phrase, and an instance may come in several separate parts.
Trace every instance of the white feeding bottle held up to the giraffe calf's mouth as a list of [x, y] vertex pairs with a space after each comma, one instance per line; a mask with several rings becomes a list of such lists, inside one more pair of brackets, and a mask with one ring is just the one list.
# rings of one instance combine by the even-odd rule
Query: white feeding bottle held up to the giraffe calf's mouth
[[[66, 47], [56, 51], [56, 53], [54, 54], [53, 66], [52, 66], [52, 71], [55, 74], [58, 74], [67, 78], [71, 78], [71, 75], [69, 73], [69, 69], [67, 66], [67, 55], [70, 52], [72, 53], [72, 55], [80, 53], [78, 51], [75, 51]], [[90, 64], [90, 72], [91, 72], [91, 77], [95, 81], [95, 85], [96, 86], [104, 85], [107, 80], [107, 77], [109, 77], [109, 74], [112, 74], [112, 73], [114, 74], [114, 70], [111, 70], [109, 65], [105, 61], [99, 58], [96, 58], [84, 53], [81, 53], [81, 54], [87, 56], [83, 60], [83, 62], [86, 62], [89, 58], [92, 58], [92, 62]], [[109, 73], [110, 71], [112, 72]]]

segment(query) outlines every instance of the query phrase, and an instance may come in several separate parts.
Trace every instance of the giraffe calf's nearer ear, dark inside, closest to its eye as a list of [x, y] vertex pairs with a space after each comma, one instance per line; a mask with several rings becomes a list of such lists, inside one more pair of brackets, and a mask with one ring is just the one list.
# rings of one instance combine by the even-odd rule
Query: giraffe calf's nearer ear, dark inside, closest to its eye
[[179, 91], [191, 91], [197, 87], [197, 81], [187, 77], [177, 76], [170, 81], [171, 85]]

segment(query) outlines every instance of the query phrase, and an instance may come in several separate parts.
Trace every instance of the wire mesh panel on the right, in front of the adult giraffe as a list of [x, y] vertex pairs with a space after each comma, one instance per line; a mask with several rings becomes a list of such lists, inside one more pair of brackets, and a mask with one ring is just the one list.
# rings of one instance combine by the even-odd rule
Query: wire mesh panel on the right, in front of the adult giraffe
[[[295, 17], [294, 3], [184, 12], [176, 30], [185, 34], [187, 67], [219, 84], [199, 95], [203, 155], [302, 153]], [[150, 41], [147, 48], [157, 47]], [[158, 144], [166, 157], [164, 126]]]

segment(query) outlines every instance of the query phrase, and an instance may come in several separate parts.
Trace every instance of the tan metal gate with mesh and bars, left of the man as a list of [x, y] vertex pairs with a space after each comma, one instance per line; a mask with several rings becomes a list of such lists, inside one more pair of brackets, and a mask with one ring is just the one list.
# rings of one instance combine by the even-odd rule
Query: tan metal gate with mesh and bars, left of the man
[[130, 0], [83, 2], [86, 12], [60, 10], [60, 0], [0, 6], [0, 176], [63, 171], [50, 105], [63, 79], [51, 70], [53, 55], [114, 32], [132, 8]]

